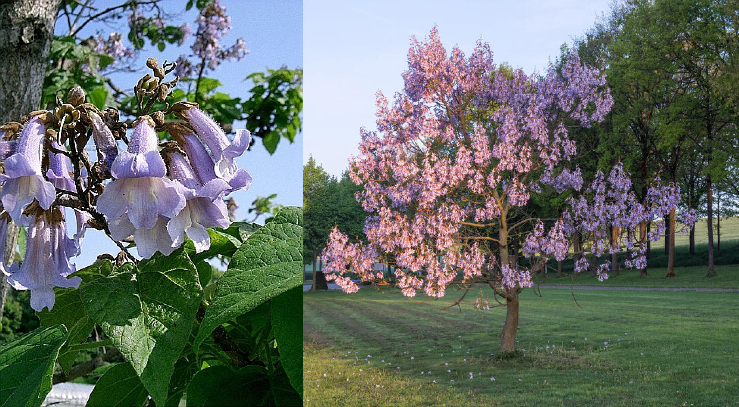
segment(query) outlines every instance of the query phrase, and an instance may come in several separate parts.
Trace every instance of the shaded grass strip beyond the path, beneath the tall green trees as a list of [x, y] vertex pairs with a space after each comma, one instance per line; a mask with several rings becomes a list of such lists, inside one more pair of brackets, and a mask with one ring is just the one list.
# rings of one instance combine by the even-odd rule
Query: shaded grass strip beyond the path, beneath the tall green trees
[[534, 277], [540, 285], [605, 285], [610, 287], [666, 287], [666, 288], [739, 288], [739, 265], [717, 265], [716, 275], [706, 277], [705, 265], [675, 268], [677, 276], [664, 278], [667, 268], [648, 268], [646, 276], [639, 276], [637, 270], [621, 270], [618, 276], [609, 276], [599, 282], [589, 273], [575, 275], [572, 272], [557, 276], [556, 271], [548, 271]]

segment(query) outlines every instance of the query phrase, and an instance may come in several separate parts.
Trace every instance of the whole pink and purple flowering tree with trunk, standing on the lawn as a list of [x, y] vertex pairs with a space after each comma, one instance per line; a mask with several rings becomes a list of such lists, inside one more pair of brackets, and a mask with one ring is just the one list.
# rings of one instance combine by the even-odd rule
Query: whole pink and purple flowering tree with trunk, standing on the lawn
[[[334, 229], [323, 253], [333, 273], [327, 279], [355, 292], [351, 272], [406, 296], [423, 290], [432, 297], [450, 285], [486, 283], [505, 299], [501, 347], [513, 352], [518, 296], [548, 259], [572, 254], [573, 232], [596, 258], [629, 251], [627, 266], [644, 267], [633, 231], [641, 220], [655, 220], [650, 239], [658, 239], [664, 222], [656, 219], [677, 205], [678, 190], [655, 182], [642, 205], [620, 164], [589, 185], [571, 164], [576, 145], [568, 128], [602, 120], [612, 105], [603, 74], [576, 52], [561, 72], [506, 73], [482, 41], [469, 58], [456, 47], [447, 55], [435, 28], [426, 41], [412, 39], [408, 63], [392, 105], [378, 94], [378, 132], [363, 129], [350, 163], [353, 181], [364, 186], [357, 198], [368, 212], [369, 243], [350, 243]], [[527, 212], [531, 195], [565, 191], [570, 208], [560, 218]], [[514, 242], [522, 242], [528, 264], [517, 261]], [[381, 259], [395, 265], [394, 273], [373, 270]], [[576, 270], [588, 266], [585, 259]], [[599, 266], [600, 279], [607, 268]], [[477, 306], [489, 303], [477, 299]]]

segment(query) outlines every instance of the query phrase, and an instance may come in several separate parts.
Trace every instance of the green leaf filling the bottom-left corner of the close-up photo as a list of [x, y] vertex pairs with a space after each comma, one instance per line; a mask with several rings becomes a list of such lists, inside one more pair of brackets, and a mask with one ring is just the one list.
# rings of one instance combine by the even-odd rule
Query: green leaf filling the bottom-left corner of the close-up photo
[[0, 347], [0, 406], [41, 406], [67, 339], [62, 324], [40, 327]]

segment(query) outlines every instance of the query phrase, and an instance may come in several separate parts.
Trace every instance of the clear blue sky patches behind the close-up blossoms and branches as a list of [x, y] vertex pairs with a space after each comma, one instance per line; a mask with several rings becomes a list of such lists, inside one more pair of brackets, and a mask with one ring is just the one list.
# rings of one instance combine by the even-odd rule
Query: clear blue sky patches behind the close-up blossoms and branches
[[[160, 1], [160, 7], [164, 12], [173, 15], [173, 18], [168, 20], [169, 24], [180, 25], [188, 22], [194, 32], [197, 29], [197, 25], [194, 24], [197, 10], [193, 9], [185, 13], [185, 2], [184, 0], [163, 0]], [[120, 1], [98, 0], [94, 5], [99, 10], [104, 10], [116, 4], [120, 4]], [[241, 37], [250, 54], [236, 63], [222, 63], [217, 70], [208, 74], [209, 77], [215, 77], [224, 84], [219, 91], [225, 91], [232, 97], [245, 99], [248, 98], [248, 90], [251, 88], [251, 82], [244, 80], [248, 74], [257, 71], [264, 72], [268, 68], [276, 69], [283, 65], [288, 68], [302, 67], [302, 1], [221, 0], [221, 4], [226, 7], [226, 13], [231, 17], [233, 26], [231, 32], [223, 38], [222, 45], [231, 46], [236, 38]], [[124, 24], [126, 24], [125, 19], [118, 26], [89, 24], [84, 29], [83, 35], [95, 35], [100, 30], [107, 36], [115, 29], [119, 31], [121, 28], [125, 29]], [[58, 34], [64, 34], [67, 31], [64, 19], [58, 21], [56, 31]], [[178, 55], [191, 52], [189, 46], [193, 40], [194, 38], [191, 37], [181, 47], [168, 46], [165, 52], [159, 52], [149, 46], [149, 49], [140, 52], [138, 62], [140, 66], [144, 66], [149, 56], [157, 57], [160, 62], [165, 59], [175, 60]], [[114, 74], [112, 79], [118, 86], [130, 89], [143, 73], [146, 72]], [[243, 127], [243, 124], [239, 126], [238, 122], [234, 125], [235, 128]], [[253, 178], [248, 191], [232, 194], [239, 204], [237, 212], [239, 219], [253, 219], [253, 215], [248, 214], [248, 209], [257, 196], [277, 193], [277, 203], [302, 206], [302, 145], [302, 134], [292, 145], [283, 139], [274, 155], [270, 156], [259, 139], [251, 151], [247, 151], [238, 160], [239, 166], [248, 170]], [[68, 216], [68, 218], [72, 217]], [[83, 253], [72, 259], [72, 262], [75, 262], [78, 268], [82, 268], [94, 262], [95, 257], [100, 253], [111, 253], [115, 256], [118, 248], [102, 232], [88, 230], [83, 243]]]

